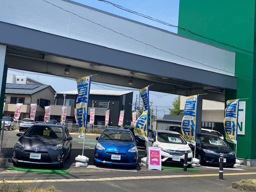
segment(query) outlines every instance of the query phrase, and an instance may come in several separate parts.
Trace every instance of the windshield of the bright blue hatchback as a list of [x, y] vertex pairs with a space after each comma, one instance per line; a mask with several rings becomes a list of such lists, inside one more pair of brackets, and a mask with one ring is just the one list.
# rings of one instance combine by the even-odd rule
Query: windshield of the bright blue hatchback
[[123, 130], [105, 130], [102, 133], [102, 140], [133, 141], [132, 133]]

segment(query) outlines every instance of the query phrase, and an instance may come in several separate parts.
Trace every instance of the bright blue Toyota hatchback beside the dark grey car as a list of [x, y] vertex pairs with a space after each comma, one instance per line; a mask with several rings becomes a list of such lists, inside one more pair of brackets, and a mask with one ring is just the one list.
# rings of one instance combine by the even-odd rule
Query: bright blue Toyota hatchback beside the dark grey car
[[138, 148], [128, 129], [106, 128], [94, 148], [94, 164], [130, 166], [136, 168]]

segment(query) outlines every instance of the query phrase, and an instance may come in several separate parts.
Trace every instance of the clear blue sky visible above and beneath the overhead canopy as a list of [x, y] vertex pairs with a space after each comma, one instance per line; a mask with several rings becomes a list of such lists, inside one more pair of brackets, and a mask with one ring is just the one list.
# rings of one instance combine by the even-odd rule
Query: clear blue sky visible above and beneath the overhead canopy
[[[155, 26], [170, 32], [177, 32], [177, 29], [171, 26], [160, 24], [149, 20], [147, 18], [132, 14], [120, 8], [116, 8], [111, 4], [107, 4], [100, 0], [73, 0], [80, 4], [90, 6], [99, 10], [110, 12], [118, 16], [129, 18], [131, 20], [136, 20], [148, 24], [150, 26]], [[161, 20], [168, 24], [178, 26], [178, 10], [179, 10], [179, 0], [108, 0], [108, 2], [117, 4], [126, 9], [150, 16], [151, 18]], [[27, 76], [39, 82], [47, 85], [51, 85], [56, 92], [75, 90], [76, 81], [69, 78], [61, 78], [56, 76], [50, 76], [46, 74], [37, 74], [33, 72], [26, 72], [21, 70], [8, 70], [8, 74], [16, 74], [16, 76]], [[108, 90], [132, 90], [134, 92], [133, 102], [136, 100], [136, 96], [139, 94], [138, 89], [125, 88], [120, 86], [113, 86], [107, 84], [94, 83], [91, 84], [91, 89], [108, 89]], [[172, 101], [177, 95], [152, 92], [150, 91], [150, 101], [153, 102], [152, 109], [153, 114], [157, 115], [158, 118], [162, 118], [164, 114], [169, 114], [169, 110], [172, 106]]]

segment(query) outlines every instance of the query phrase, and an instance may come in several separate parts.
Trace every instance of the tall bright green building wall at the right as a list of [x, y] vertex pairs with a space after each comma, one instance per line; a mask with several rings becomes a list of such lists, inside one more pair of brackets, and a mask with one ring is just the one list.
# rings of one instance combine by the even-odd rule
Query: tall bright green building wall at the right
[[255, 10], [254, 0], [180, 0], [178, 18], [178, 34], [236, 52], [238, 88], [225, 98], [246, 102], [245, 135], [231, 146], [248, 166], [256, 166]]

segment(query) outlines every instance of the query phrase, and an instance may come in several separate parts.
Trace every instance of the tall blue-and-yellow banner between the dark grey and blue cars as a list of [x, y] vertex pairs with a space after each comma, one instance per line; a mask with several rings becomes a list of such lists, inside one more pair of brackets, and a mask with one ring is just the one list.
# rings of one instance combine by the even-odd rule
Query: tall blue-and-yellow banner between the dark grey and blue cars
[[79, 126], [79, 138], [84, 138], [88, 116], [91, 76], [76, 79], [78, 96], [76, 99], [76, 117]]

